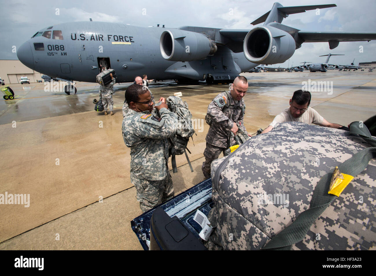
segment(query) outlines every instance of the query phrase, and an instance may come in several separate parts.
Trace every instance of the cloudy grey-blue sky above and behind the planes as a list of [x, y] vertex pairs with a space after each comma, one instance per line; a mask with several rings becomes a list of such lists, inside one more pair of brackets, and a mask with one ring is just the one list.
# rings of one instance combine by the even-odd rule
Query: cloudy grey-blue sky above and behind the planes
[[[38, 30], [58, 23], [71, 21], [117, 22], [147, 27], [164, 24], [166, 28], [179, 26], [200, 26], [226, 29], [252, 29], [250, 23], [271, 9], [270, 0], [64, 0], [30, 1], [0, 0], [3, 15], [0, 32], [0, 59], [17, 59], [12, 47], [19, 47]], [[374, 0], [285, 0], [283, 6], [336, 4], [337, 7], [293, 14], [282, 24], [300, 30], [312, 31], [361, 31], [376, 32], [376, 1]], [[363, 53], [359, 53], [363, 46]], [[14, 48], [14, 47], [13, 47]], [[345, 54], [332, 57], [330, 63], [349, 64], [355, 58], [355, 64], [376, 60], [376, 41], [340, 42], [334, 50], [327, 42], [303, 43], [290, 61], [282, 66], [299, 65], [299, 62], [324, 62], [324, 54]], [[278, 65], [277, 65], [278, 66]], [[282, 67], [281, 66], [281, 67]]]

